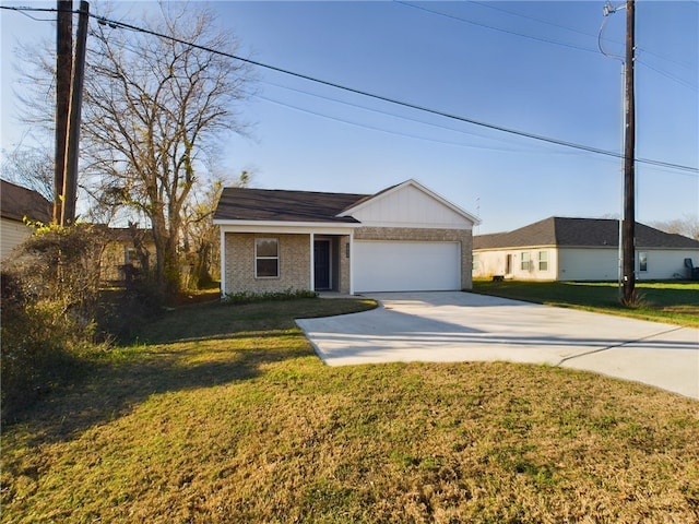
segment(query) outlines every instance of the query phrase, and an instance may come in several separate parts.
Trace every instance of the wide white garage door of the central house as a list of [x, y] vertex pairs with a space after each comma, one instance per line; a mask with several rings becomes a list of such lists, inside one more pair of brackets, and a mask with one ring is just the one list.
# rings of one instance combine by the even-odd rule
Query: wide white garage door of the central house
[[354, 242], [354, 290], [461, 289], [459, 242]]

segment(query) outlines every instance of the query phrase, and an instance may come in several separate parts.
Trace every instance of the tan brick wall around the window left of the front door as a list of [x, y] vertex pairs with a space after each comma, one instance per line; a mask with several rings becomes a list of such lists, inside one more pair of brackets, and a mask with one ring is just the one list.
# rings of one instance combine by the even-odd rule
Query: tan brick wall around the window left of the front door
[[[280, 241], [279, 278], [254, 277], [254, 239]], [[279, 293], [310, 289], [310, 236], [227, 233], [224, 293]]]

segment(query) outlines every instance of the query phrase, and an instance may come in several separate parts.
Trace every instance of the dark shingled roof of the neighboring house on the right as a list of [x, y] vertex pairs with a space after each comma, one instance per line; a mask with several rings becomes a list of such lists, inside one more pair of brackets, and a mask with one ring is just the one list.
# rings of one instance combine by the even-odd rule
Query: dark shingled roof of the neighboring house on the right
[[[473, 249], [558, 246], [579, 248], [616, 247], [619, 242], [619, 221], [609, 218], [549, 218], [508, 233], [477, 235]], [[699, 241], [682, 235], [661, 231], [636, 223], [637, 248], [699, 249]]]

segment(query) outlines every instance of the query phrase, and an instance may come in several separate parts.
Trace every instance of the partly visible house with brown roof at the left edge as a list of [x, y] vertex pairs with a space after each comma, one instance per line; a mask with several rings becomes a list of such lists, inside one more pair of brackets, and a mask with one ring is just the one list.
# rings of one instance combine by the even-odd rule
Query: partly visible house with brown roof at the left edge
[[51, 203], [32, 189], [0, 180], [0, 260], [24, 242], [33, 233], [24, 218], [48, 224]]

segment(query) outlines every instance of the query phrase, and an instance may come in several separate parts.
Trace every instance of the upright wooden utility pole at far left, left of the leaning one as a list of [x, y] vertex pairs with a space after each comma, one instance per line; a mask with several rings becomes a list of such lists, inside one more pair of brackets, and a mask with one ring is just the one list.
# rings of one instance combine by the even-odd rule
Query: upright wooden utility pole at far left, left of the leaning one
[[54, 153], [54, 223], [63, 219], [63, 178], [68, 142], [70, 79], [73, 72], [73, 0], [57, 0], [56, 25], [56, 151]]

